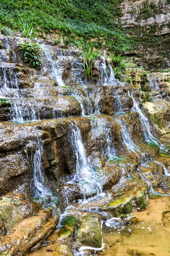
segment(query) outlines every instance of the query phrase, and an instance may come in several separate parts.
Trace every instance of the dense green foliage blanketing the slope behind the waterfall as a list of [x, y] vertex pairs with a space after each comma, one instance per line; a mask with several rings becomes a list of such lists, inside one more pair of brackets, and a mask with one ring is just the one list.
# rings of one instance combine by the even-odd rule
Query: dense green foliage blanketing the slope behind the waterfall
[[[10, 20], [33, 20], [41, 29], [60, 30], [67, 36], [65, 44], [75, 44], [76, 37], [82, 43], [94, 37], [102, 37], [112, 51], [130, 49], [134, 42], [124, 29], [118, 28], [116, 19], [122, 15], [119, 3], [122, 0], [2, 0], [0, 21], [12, 26]], [[100, 40], [95, 47], [100, 47]]]

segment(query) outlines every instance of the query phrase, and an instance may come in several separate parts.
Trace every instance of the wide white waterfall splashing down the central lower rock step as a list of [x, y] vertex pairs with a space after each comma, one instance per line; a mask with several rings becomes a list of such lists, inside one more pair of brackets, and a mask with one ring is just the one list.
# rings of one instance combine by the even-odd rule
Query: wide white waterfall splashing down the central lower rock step
[[82, 141], [80, 128], [70, 122], [71, 142], [76, 155], [76, 174], [72, 181], [78, 182], [84, 197], [89, 197], [102, 192], [99, 175], [89, 163]]

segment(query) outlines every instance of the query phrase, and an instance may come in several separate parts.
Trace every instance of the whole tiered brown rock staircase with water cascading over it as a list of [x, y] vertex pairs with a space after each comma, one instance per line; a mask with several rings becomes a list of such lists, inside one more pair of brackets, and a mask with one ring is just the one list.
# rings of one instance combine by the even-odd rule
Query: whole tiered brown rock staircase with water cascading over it
[[[170, 138], [160, 140], [140, 88], [116, 80], [103, 57], [88, 81], [74, 47], [38, 39], [35, 70], [18, 51], [23, 38], [0, 40], [1, 254], [101, 248], [102, 220], [169, 193]], [[167, 91], [156, 95], [170, 104]]]

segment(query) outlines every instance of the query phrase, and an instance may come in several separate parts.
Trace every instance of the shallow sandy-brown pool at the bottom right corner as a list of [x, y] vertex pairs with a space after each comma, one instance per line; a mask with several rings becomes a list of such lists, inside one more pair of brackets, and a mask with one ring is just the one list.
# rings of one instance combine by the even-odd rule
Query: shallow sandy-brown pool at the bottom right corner
[[147, 209], [129, 220], [103, 222], [104, 248], [76, 253], [84, 256], [170, 255], [170, 196], [149, 199]]

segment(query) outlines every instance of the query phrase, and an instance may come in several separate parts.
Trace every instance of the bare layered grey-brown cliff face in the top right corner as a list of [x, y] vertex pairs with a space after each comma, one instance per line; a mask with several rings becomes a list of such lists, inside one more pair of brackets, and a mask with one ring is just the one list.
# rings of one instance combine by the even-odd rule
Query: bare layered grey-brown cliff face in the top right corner
[[[138, 44], [125, 54], [132, 57], [137, 66], [142, 66], [147, 70], [168, 68], [170, 65], [169, 2], [166, 0], [124, 0], [120, 6], [122, 8], [121, 25], [124, 28], [130, 28], [129, 33], [138, 38]], [[142, 36], [148, 37], [146, 43], [140, 43]], [[150, 40], [150, 36], [158, 39], [156, 47], [155, 42]], [[163, 48], [162, 45], [164, 45]]]

